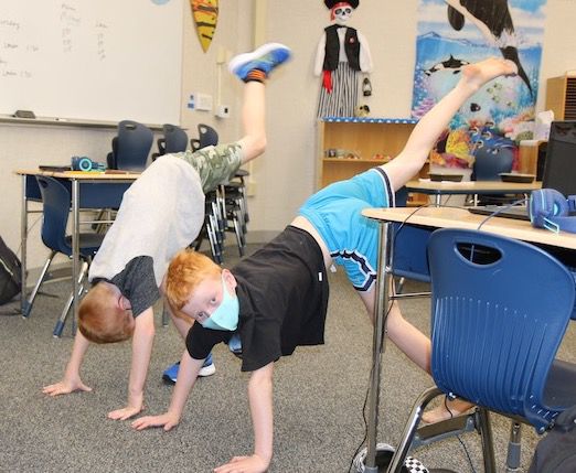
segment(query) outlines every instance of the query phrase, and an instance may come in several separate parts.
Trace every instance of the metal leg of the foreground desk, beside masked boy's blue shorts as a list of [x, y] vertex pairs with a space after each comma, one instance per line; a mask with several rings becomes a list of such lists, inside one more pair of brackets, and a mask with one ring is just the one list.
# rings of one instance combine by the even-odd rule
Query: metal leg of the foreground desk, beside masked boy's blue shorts
[[376, 303], [374, 304], [374, 336], [372, 343], [372, 379], [369, 397], [367, 412], [367, 445], [364, 471], [377, 473], [376, 466], [376, 436], [378, 426], [380, 383], [382, 370], [382, 354], [385, 350], [385, 327], [387, 308], [390, 304], [390, 280], [388, 269], [388, 237], [392, 226], [387, 222], [380, 223], [378, 236], [378, 261], [376, 277]]

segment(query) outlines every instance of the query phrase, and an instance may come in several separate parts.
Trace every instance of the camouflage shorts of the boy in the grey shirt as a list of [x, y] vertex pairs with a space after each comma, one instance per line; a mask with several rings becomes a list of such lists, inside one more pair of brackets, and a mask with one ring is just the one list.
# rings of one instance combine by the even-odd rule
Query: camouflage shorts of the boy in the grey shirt
[[242, 147], [239, 143], [217, 144], [198, 151], [178, 154], [199, 173], [204, 192], [226, 183], [242, 164]]

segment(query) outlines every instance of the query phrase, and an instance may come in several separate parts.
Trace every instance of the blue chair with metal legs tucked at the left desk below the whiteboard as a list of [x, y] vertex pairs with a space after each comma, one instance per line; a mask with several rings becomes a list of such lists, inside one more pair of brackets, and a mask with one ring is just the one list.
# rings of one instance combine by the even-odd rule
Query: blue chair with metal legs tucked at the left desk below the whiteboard
[[[52, 264], [52, 260], [56, 254], [66, 255], [68, 258], [72, 257], [72, 236], [66, 234], [66, 225], [68, 223], [70, 206], [71, 206], [71, 192], [70, 189], [62, 182], [54, 178], [49, 176], [36, 176], [38, 185], [42, 194], [42, 243], [50, 248], [50, 255], [44, 264], [40, 277], [34, 286], [34, 289], [30, 293], [30, 297], [25, 303], [23, 316], [28, 318], [32, 311], [34, 299], [44, 282], [47, 270]], [[93, 233], [82, 233], [79, 235], [79, 255], [83, 260], [82, 271], [78, 280], [82, 286], [88, 265], [92, 261], [94, 255], [102, 245], [104, 235]], [[73, 297], [68, 298], [68, 301], [64, 308], [64, 311], [54, 327], [54, 336], [62, 334], [62, 329], [66, 315], [72, 307]]]

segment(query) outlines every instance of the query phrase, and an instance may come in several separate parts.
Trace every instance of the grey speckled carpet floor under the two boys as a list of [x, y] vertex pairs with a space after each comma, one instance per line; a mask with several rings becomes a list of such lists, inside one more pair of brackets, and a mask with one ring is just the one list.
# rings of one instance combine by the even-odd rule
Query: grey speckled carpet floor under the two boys
[[[227, 249], [225, 266], [235, 260], [234, 249]], [[364, 438], [362, 409], [372, 361], [372, 326], [343, 272], [330, 278], [326, 345], [298, 348], [276, 364], [270, 472], [348, 472]], [[57, 297], [39, 297], [29, 320], [13, 314], [18, 303], [0, 308], [0, 471], [202, 473], [233, 455], [252, 452], [247, 375], [239, 372], [239, 362], [225, 346], [214, 352], [216, 374], [198, 381], [181, 423], [170, 432], [136, 432], [128, 421], [106, 419], [108, 411], [126, 401], [128, 343], [88, 351], [82, 375], [94, 388], [92, 393], [58, 398], [42, 395], [42, 386], [61, 378], [71, 352], [70, 324], [62, 338], [52, 337], [68, 289], [70, 281], [45, 286], [45, 292]], [[428, 331], [427, 299], [403, 301], [402, 308], [408, 320]], [[162, 327], [160, 313], [158, 308], [147, 413], [166, 410], [172, 387], [162, 383], [161, 374], [183, 351], [173, 326]], [[576, 361], [576, 332], [567, 338], [564, 358]], [[427, 375], [386, 344], [380, 442], [397, 442], [414, 400], [430, 385]], [[493, 419], [498, 464], [503, 465], [510, 422], [498, 416]], [[414, 456], [429, 467], [482, 471], [478, 436], [465, 434], [461, 440], [462, 444], [451, 439], [419, 449]], [[536, 441], [532, 429], [524, 427], [525, 469]]]

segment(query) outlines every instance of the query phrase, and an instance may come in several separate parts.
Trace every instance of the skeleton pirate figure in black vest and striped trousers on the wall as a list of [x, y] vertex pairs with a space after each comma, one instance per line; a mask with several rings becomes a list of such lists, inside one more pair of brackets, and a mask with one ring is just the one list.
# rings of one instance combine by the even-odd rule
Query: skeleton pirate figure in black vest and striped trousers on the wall
[[346, 25], [359, 2], [324, 0], [332, 24], [324, 29], [316, 53], [314, 75], [322, 77], [319, 118], [353, 117], [360, 90], [359, 74], [372, 71], [366, 39]]

